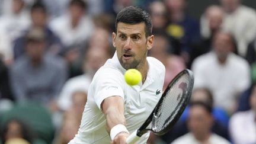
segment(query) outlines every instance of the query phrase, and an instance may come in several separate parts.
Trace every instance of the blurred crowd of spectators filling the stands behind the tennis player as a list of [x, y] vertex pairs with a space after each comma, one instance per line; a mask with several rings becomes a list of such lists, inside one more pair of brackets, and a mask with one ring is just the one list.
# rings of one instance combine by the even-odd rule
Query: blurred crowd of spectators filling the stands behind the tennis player
[[92, 77], [115, 52], [115, 17], [129, 5], [151, 14], [149, 56], [165, 65], [164, 89], [185, 68], [195, 79], [180, 120], [148, 144], [256, 143], [256, 11], [216, 1], [197, 20], [187, 0], [0, 0], [0, 143], [75, 136]]

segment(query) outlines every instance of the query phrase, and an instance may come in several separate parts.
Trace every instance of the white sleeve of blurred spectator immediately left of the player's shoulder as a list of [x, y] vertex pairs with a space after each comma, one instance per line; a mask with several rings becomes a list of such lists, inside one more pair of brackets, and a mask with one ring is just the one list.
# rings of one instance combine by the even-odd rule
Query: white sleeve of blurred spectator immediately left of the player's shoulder
[[84, 91], [88, 93], [89, 85], [91, 84], [91, 76], [89, 75], [79, 75], [75, 76], [68, 81], [60, 92], [59, 100], [57, 101], [58, 106], [62, 110], [67, 110], [72, 104], [72, 94], [75, 91]]

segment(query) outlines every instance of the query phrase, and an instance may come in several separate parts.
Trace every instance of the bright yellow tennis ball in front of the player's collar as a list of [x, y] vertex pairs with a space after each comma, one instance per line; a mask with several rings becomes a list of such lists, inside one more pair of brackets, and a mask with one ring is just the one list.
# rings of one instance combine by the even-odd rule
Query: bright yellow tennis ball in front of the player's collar
[[142, 81], [142, 74], [137, 69], [128, 69], [124, 73], [124, 79], [128, 85], [137, 85]]

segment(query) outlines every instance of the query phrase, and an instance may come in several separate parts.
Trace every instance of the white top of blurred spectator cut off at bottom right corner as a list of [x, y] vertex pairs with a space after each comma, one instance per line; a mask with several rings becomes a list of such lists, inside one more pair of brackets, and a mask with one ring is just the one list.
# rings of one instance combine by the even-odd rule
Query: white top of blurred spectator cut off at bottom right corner
[[234, 144], [256, 143], [256, 114], [252, 110], [233, 114], [229, 120], [229, 132]]

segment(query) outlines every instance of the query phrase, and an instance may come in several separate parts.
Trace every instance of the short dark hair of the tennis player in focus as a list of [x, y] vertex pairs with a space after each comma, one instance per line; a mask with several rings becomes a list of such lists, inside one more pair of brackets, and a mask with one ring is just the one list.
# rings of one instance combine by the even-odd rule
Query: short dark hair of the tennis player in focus
[[127, 24], [137, 24], [137, 23], [145, 23], [145, 32], [146, 37], [151, 36], [152, 34], [152, 20], [147, 11], [140, 7], [129, 6], [122, 9], [116, 17], [116, 32], [117, 32], [117, 24], [127, 23]]

